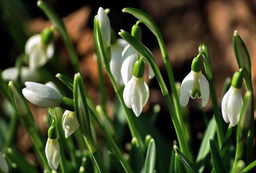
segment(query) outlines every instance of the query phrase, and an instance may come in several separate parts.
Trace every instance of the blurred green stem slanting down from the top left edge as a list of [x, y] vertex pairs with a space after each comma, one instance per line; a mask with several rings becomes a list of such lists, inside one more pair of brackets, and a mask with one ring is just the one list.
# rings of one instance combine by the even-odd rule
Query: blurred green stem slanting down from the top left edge
[[56, 30], [60, 33], [71, 58], [71, 62], [75, 68], [76, 72], [79, 72], [79, 60], [78, 56], [76, 54], [76, 50], [74, 49], [71, 40], [68, 36], [66, 27], [62, 21], [62, 19], [58, 16], [58, 14], [44, 1], [37, 1], [37, 6], [43, 10], [43, 12], [46, 14], [46, 16], [51, 20], [51, 22], [55, 25]]

